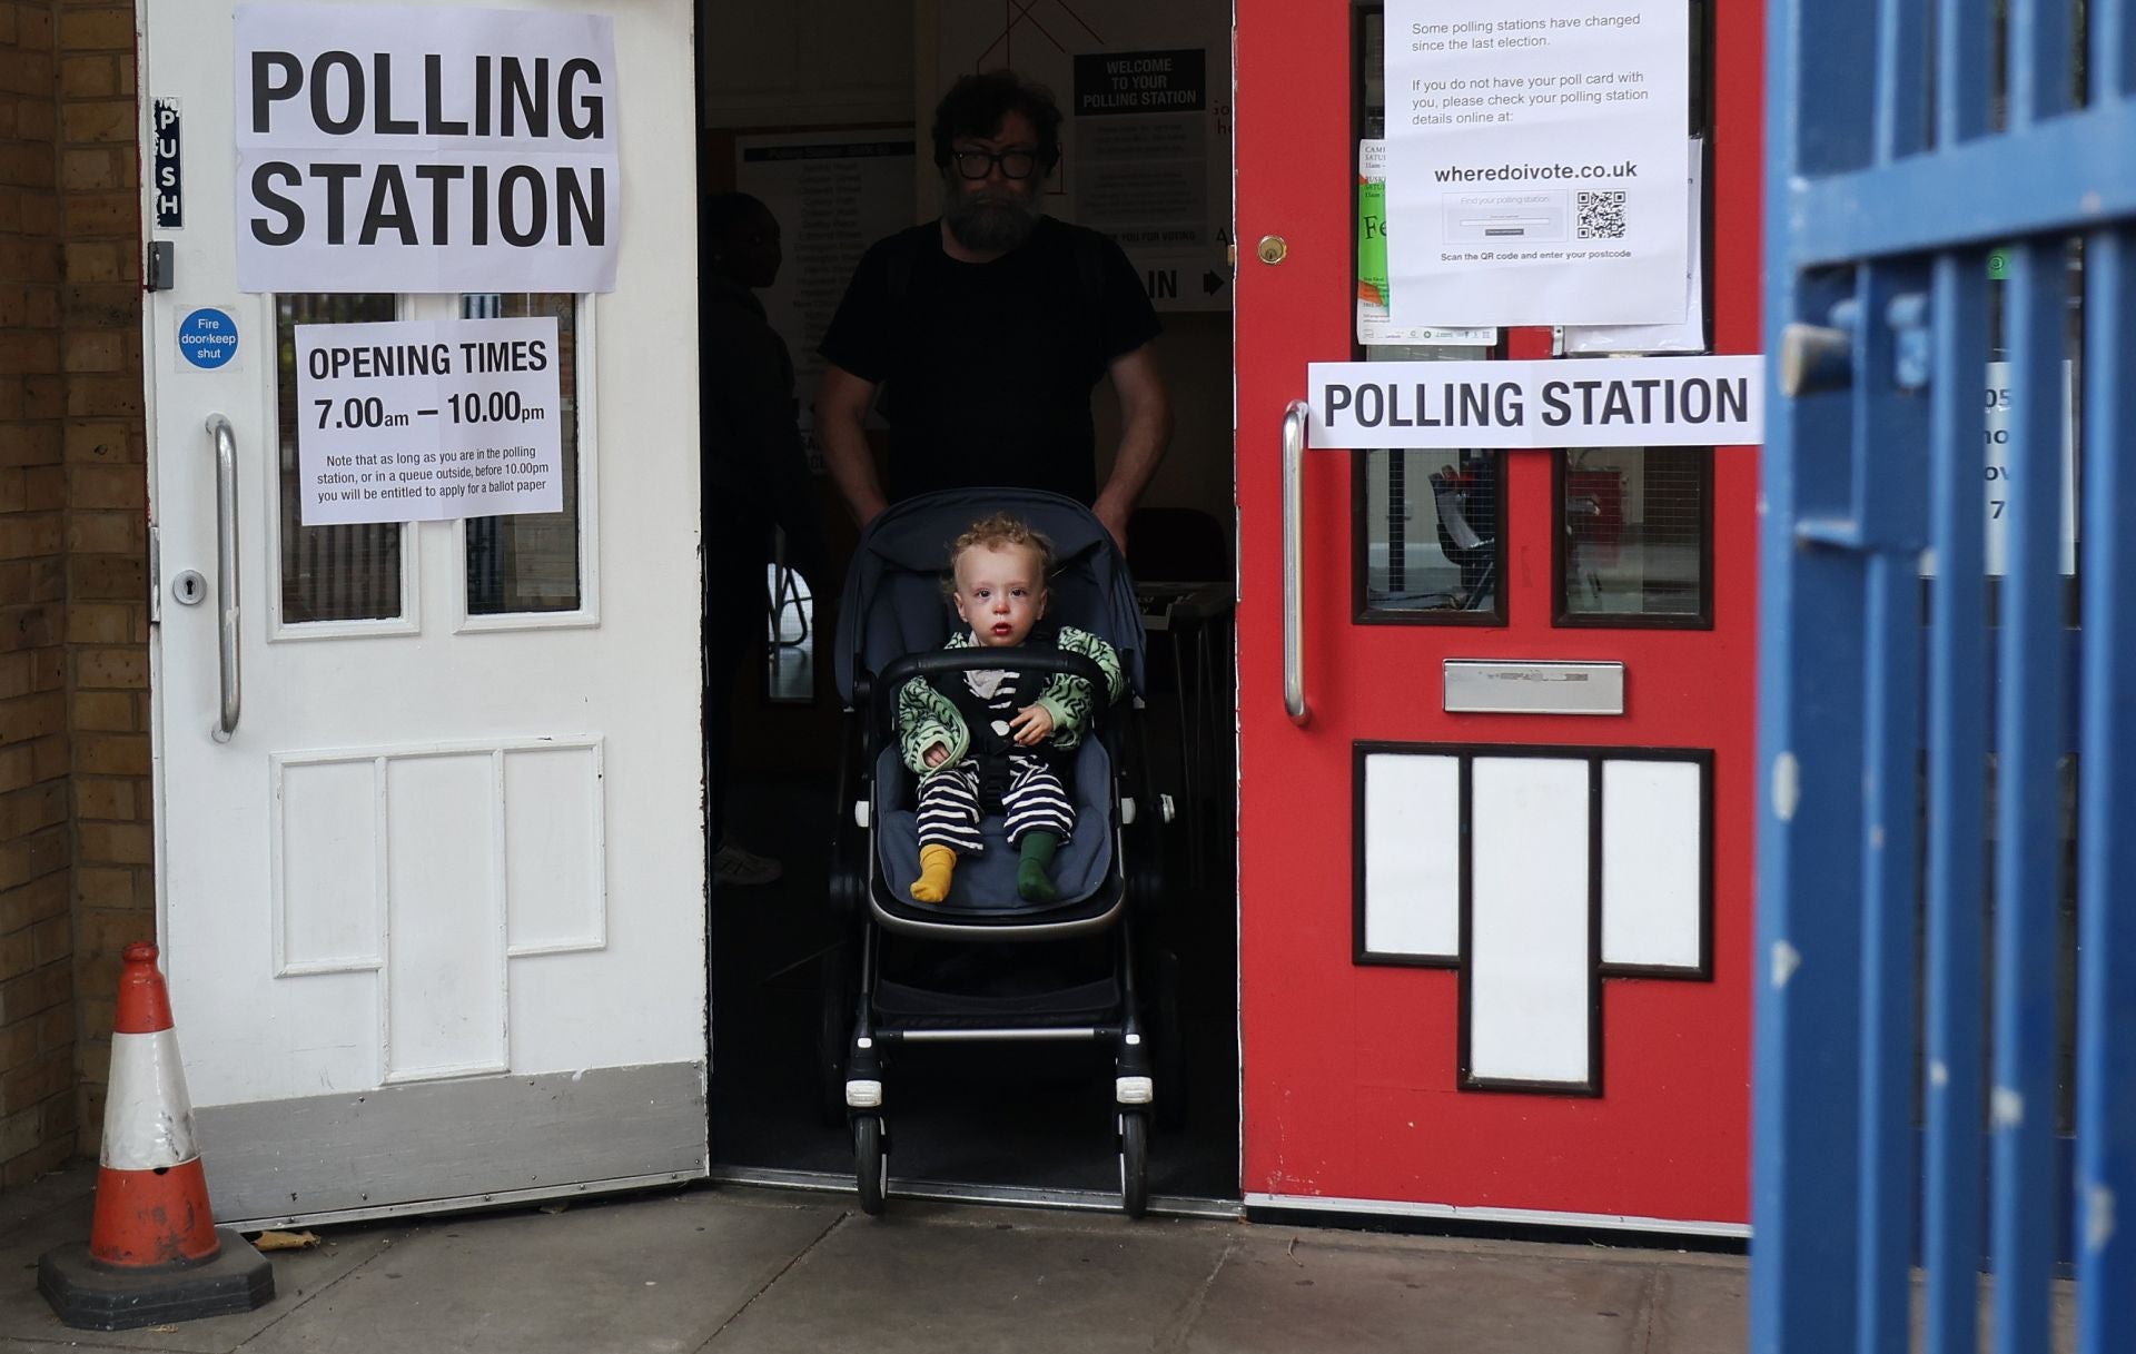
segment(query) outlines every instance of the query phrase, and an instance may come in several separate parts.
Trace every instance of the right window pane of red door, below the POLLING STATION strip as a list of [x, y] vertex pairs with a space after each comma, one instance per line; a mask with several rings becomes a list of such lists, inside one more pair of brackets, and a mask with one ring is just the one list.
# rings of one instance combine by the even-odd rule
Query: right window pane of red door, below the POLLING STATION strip
[[1559, 455], [1559, 624], [1711, 621], [1711, 468], [1705, 446]]

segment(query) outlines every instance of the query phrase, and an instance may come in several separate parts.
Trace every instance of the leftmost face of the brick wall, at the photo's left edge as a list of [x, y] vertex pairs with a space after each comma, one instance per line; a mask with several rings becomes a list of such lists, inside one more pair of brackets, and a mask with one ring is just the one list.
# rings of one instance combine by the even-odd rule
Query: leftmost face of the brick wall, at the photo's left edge
[[0, 0], [0, 1185], [77, 1121], [56, 17]]

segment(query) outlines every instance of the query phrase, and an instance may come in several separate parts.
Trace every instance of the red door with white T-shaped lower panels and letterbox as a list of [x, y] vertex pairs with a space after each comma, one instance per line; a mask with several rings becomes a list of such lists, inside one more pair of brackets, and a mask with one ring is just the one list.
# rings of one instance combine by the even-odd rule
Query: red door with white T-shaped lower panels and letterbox
[[[1711, 28], [1707, 269], [1717, 352], [1752, 352], [1758, 333], [1760, 9], [1717, 0]], [[1299, 726], [1284, 711], [1279, 431], [1288, 402], [1305, 393], [1307, 363], [1354, 350], [1352, 23], [1348, 0], [1237, 4], [1243, 1187], [1250, 1202], [1286, 1207], [1361, 1200], [1485, 1217], [1741, 1224], [1749, 1209], [1754, 451], [1713, 453], [1711, 628], [1696, 630], [1555, 624], [1553, 534], [1561, 523], [1549, 451], [1504, 459], [1504, 626], [1358, 624], [1354, 455], [1305, 453], [1312, 713]], [[1282, 237], [1282, 263], [1260, 261], [1262, 237]], [[1549, 350], [1549, 331], [1514, 331], [1508, 344], [1510, 357]], [[1621, 487], [1572, 474], [1589, 476], [1570, 489], [1596, 502], [1598, 528], [1623, 521]], [[1596, 534], [1593, 549], [1611, 545], [1606, 532]], [[1446, 713], [1448, 658], [1621, 662], [1625, 713]], [[1472, 914], [1457, 952], [1438, 965], [1358, 957], [1361, 750], [1467, 767]], [[1589, 850], [1568, 833], [1523, 837], [1519, 809], [1491, 786], [1508, 769], [1564, 769], [1583, 758], [1615, 767], [1645, 756], [1692, 758], [1709, 777], [1707, 822], [1685, 829], [1709, 833], [1698, 844], [1709, 965], [1666, 976], [1583, 970], [1570, 995], [1546, 993], [1538, 1010], [1557, 997], [1589, 1002], [1600, 1032], [1591, 1087], [1465, 1087], [1463, 985], [1480, 972], [1514, 980], [1504, 965], [1519, 967], [1523, 950], [1508, 948], [1497, 927], [1534, 901], [1521, 895], [1523, 871]], [[1593, 775], [1600, 784], [1604, 773]], [[1587, 812], [1617, 822], [1632, 807], [1617, 794]], [[1457, 850], [1459, 826], [1429, 831], [1446, 833], [1446, 850]], [[1416, 850], [1431, 852], [1429, 844]], [[1591, 861], [1589, 876], [1600, 878]], [[1585, 925], [1600, 950], [1600, 916], [1589, 912]], [[1487, 970], [1485, 952], [1499, 967]], [[1480, 991], [1467, 997], [1482, 999], [1493, 1021], [1519, 1008], [1504, 997], [1510, 989]]]

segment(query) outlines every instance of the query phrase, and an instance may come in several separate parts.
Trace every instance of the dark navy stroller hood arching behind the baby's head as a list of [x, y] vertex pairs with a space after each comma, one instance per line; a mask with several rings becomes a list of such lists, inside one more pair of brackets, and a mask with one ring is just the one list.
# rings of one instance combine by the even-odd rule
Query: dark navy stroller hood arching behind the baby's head
[[1072, 498], [1042, 489], [944, 489], [886, 508], [867, 523], [837, 609], [837, 694], [906, 654], [940, 649], [961, 628], [942, 594], [948, 551], [985, 517], [1012, 513], [1053, 540], [1047, 619], [1119, 649], [1128, 690], [1143, 692], [1143, 613], [1113, 534]]

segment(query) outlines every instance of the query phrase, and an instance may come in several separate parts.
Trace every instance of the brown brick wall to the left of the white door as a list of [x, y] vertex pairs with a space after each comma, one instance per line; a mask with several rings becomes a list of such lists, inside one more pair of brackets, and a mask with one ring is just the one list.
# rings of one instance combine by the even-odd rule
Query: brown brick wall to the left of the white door
[[132, 4], [0, 0], [0, 1187], [96, 1151], [154, 935], [137, 126]]

